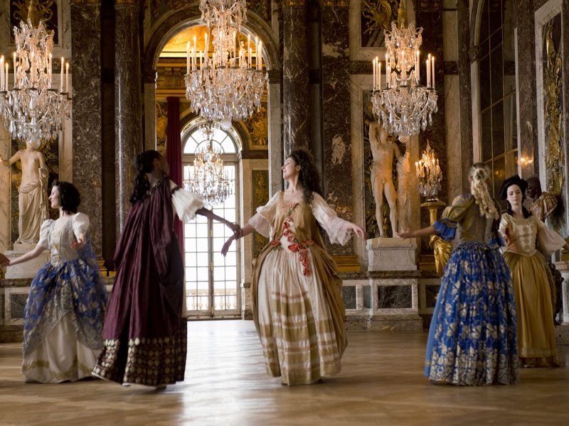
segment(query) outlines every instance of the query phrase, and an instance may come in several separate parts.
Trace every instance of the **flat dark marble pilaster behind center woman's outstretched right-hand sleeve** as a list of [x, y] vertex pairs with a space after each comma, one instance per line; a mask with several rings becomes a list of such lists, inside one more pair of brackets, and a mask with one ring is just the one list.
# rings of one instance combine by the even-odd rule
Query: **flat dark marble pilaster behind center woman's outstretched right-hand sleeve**
[[[353, 220], [351, 177], [349, 2], [325, 0], [321, 9], [322, 121], [324, 199], [339, 217]], [[353, 255], [345, 246], [327, 244], [334, 256]]]

